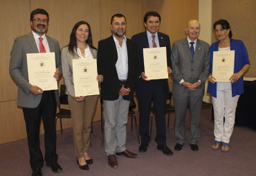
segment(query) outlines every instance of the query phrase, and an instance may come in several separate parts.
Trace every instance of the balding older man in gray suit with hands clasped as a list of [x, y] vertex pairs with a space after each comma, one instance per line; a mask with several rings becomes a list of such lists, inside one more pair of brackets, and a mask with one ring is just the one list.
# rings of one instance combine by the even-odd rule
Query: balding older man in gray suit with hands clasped
[[181, 150], [185, 145], [185, 116], [190, 104], [190, 135], [188, 143], [191, 150], [197, 151], [200, 139], [200, 119], [205, 81], [210, 68], [209, 44], [197, 39], [200, 23], [188, 22], [185, 28], [188, 37], [175, 41], [172, 46], [172, 93], [175, 106], [175, 137], [178, 139], [174, 150]]

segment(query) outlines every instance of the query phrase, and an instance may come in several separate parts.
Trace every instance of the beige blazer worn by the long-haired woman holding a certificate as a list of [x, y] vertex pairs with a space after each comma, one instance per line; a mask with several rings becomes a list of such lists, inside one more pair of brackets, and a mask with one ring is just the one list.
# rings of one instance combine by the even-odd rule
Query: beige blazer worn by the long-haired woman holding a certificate
[[[87, 45], [88, 46], [88, 45]], [[89, 47], [89, 46], [88, 46]], [[90, 48], [91, 55], [93, 58], [97, 58], [97, 50]], [[74, 48], [76, 55], [72, 55], [68, 51], [68, 46], [62, 48], [62, 70], [63, 70], [63, 79], [66, 85], [66, 94], [75, 97], [75, 89], [73, 82], [73, 59], [79, 59], [77, 51]]]

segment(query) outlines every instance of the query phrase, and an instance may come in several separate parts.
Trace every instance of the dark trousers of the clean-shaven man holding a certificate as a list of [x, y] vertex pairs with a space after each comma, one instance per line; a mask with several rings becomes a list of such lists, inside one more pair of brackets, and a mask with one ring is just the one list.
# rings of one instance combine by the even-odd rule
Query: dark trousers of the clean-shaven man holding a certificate
[[156, 138], [158, 146], [166, 146], [165, 108], [167, 99], [167, 80], [158, 79], [147, 82], [143, 92], [136, 92], [138, 109], [140, 112], [140, 137], [141, 142], [148, 144], [149, 137], [149, 115], [152, 101], [156, 117]]

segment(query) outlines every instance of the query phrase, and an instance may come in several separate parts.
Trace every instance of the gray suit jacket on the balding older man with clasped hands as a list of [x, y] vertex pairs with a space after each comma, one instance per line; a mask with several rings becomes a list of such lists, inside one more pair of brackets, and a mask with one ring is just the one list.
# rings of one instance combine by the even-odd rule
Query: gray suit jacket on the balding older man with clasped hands
[[[188, 96], [192, 94], [194, 97], [203, 97], [205, 81], [210, 68], [209, 49], [210, 46], [208, 43], [197, 39], [196, 50], [192, 59], [187, 37], [173, 43], [171, 60], [172, 77], [174, 78], [172, 93], [174, 95]], [[200, 79], [201, 86], [197, 90], [188, 90], [179, 84], [181, 79], [191, 84], [194, 84]]]

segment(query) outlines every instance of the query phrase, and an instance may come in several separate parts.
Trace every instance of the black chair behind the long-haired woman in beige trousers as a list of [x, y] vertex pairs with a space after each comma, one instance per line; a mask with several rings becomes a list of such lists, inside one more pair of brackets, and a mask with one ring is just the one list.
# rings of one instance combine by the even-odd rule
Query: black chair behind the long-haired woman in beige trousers
[[[68, 95], [65, 94], [66, 86], [65, 84], [60, 85], [60, 104], [68, 104]], [[60, 131], [62, 133], [62, 118], [71, 118], [71, 110], [60, 108], [59, 113], [56, 114], [55, 125], [57, 124], [57, 118], [60, 118]], [[93, 124], [91, 123], [91, 134], [93, 134]], [[90, 144], [92, 146], [92, 143]]]

